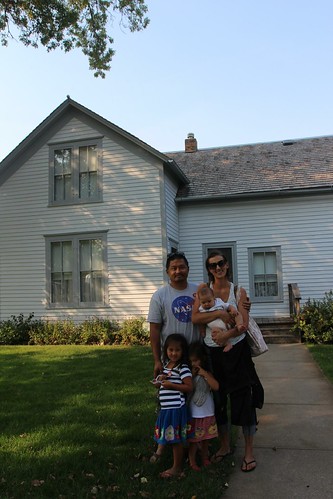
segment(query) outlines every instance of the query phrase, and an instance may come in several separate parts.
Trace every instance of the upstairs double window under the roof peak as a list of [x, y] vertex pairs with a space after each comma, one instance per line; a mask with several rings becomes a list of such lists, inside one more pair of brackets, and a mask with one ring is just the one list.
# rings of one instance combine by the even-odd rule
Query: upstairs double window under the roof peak
[[50, 203], [102, 200], [101, 140], [50, 147]]

